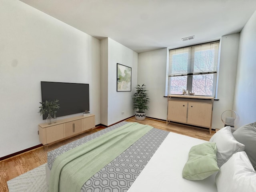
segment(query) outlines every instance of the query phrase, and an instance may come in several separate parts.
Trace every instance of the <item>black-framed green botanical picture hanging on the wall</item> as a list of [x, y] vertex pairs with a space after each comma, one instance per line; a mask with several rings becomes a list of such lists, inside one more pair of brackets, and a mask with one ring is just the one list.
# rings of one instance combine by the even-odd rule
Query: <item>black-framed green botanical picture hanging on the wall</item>
[[116, 91], [132, 91], [132, 68], [116, 64]]

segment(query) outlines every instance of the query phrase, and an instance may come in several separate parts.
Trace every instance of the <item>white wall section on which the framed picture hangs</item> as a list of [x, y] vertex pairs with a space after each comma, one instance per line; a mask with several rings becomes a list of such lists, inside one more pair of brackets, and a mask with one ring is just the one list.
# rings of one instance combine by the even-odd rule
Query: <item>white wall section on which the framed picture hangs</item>
[[[116, 64], [132, 68], [132, 91], [117, 92]], [[132, 94], [137, 84], [138, 53], [108, 38], [108, 126], [133, 116]], [[124, 114], [122, 115], [122, 112]]]

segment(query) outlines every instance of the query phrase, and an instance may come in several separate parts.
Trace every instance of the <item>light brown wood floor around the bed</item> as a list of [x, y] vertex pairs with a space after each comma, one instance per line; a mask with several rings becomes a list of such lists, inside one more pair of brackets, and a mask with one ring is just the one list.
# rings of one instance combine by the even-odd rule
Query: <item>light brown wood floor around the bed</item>
[[[153, 120], [146, 118], [144, 121], [137, 121], [134, 117], [126, 120], [128, 122], [139, 122], [141, 124], [148, 124], [155, 128], [162, 130], [175, 132], [178, 134], [183, 134], [191, 136], [194, 138], [199, 138], [202, 140], [210, 140], [211, 136], [215, 133], [212, 131], [209, 134], [208, 130], [198, 129], [198, 128], [189, 128], [186, 126], [180, 126], [176, 124], [166, 124], [164, 121]], [[0, 192], [8, 192], [7, 181], [11, 180], [25, 172], [28, 172], [42, 164], [47, 162], [47, 152], [54, 150], [64, 144], [102, 130], [104, 127], [97, 127], [88, 132], [82, 133], [78, 136], [74, 136], [67, 140], [60, 141], [56, 144], [52, 144], [47, 147], [40, 147], [29, 152], [14, 156], [12, 158], [0, 161]]]

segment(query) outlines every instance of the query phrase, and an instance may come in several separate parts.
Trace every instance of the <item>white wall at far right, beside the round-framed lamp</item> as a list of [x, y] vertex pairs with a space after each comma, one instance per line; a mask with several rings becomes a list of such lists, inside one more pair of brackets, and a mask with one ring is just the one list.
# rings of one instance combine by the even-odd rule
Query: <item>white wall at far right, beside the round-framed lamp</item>
[[236, 75], [234, 110], [238, 127], [256, 122], [256, 12], [242, 29]]

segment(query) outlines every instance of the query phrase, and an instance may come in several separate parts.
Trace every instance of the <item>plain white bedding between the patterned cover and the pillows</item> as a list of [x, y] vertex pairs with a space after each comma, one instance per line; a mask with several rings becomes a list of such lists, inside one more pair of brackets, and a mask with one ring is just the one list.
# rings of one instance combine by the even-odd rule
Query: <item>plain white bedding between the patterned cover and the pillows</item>
[[217, 192], [216, 174], [200, 181], [182, 178], [190, 148], [204, 142], [170, 132], [128, 192]]

